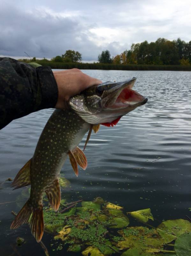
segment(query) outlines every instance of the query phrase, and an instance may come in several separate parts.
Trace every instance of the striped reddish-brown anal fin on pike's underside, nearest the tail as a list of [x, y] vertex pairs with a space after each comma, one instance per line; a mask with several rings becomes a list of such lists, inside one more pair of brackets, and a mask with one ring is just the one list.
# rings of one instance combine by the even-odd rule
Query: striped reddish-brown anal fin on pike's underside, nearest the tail
[[51, 207], [55, 211], [57, 211], [60, 206], [60, 200], [61, 200], [61, 191], [60, 191], [60, 184], [58, 179], [52, 182], [50, 187], [46, 190], [46, 194], [48, 196], [48, 201]]

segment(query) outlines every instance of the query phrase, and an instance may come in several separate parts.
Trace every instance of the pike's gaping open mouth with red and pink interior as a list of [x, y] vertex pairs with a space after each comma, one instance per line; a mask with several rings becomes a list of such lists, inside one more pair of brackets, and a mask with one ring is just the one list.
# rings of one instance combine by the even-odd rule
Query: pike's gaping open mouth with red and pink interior
[[132, 89], [135, 81], [136, 78], [134, 77], [128, 82], [124, 82], [121, 88], [116, 88], [115, 94], [112, 97], [113, 100], [108, 100], [106, 103], [107, 108], [127, 108], [144, 105], [148, 99]]

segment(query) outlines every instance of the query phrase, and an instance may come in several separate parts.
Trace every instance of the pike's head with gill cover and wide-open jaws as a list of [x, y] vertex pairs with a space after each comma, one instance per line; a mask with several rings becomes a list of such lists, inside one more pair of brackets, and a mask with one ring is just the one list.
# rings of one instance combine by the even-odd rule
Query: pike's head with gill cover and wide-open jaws
[[133, 77], [123, 82], [93, 85], [70, 98], [70, 107], [89, 124], [112, 124], [147, 102], [147, 98], [132, 89], [135, 81]]

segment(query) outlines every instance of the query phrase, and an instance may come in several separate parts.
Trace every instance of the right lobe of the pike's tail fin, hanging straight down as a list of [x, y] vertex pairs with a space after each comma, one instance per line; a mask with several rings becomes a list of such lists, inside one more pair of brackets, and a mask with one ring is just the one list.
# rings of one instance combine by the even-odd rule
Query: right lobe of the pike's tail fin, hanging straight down
[[[17, 217], [16, 217], [17, 218]], [[44, 233], [44, 220], [43, 220], [43, 207], [38, 205], [37, 208], [33, 208], [32, 217], [29, 223], [32, 235], [36, 238], [37, 243], [42, 239]]]

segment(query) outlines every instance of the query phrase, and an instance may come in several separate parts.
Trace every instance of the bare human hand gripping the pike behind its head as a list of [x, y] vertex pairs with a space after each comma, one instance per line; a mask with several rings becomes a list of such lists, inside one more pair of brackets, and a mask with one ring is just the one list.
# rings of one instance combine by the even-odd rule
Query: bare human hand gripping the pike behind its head
[[67, 109], [69, 99], [84, 91], [92, 85], [101, 84], [102, 81], [84, 74], [77, 68], [63, 71], [53, 71], [58, 85], [58, 100], [55, 108]]

